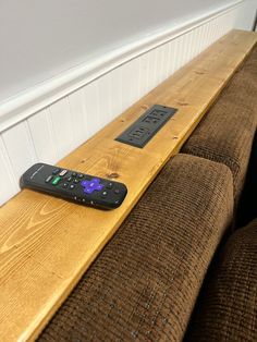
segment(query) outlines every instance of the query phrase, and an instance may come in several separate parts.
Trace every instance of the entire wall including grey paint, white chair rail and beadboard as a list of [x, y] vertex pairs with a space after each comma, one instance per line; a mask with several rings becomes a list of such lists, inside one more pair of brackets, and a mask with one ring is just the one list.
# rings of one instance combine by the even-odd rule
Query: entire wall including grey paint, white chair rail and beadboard
[[[114, 20], [107, 23], [106, 15], [106, 29], [100, 29], [95, 21], [103, 13], [100, 4], [107, 2], [107, 15], [114, 16], [114, 0], [95, 0], [87, 8], [99, 7], [95, 16], [78, 7], [84, 2], [75, 0], [16, 1], [19, 12], [14, 1], [0, 2], [0, 87], [4, 98], [0, 102], [0, 205], [20, 191], [20, 176], [34, 162], [56, 163], [230, 29], [249, 29], [256, 9], [256, 0], [230, 5], [227, 1], [195, 1], [208, 9], [198, 8], [193, 15], [192, 9], [197, 7], [191, 1], [186, 2], [191, 13], [186, 17], [175, 2], [171, 11], [167, 10], [170, 1], [164, 0], [161, 9], [158, 1], [149, 11], [154, 4], [142, 0], [140, 14], [132, 15], [137, 2], [126, 1], [120, 15], [115, 14], [126, 27]], [[77, 11], [73, 22], [72, 5]], [[158, 11], [163, 11], [164, 23], [160, 15], [156, 19]], [[130, 20], [125, 19], [127, 12]], [[85, 17], [89, 22], [85, 23]], [[169, 22], [169, 17], [173, 20]], [[95, 30], [85, 32], [91, 22]]]

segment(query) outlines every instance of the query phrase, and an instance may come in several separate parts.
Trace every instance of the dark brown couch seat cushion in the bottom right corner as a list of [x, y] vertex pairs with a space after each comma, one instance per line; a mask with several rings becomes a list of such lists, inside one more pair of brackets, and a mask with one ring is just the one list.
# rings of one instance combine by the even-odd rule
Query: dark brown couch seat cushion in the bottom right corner
[[257, 341], [257, 219], [220, 251], [185, 341]]

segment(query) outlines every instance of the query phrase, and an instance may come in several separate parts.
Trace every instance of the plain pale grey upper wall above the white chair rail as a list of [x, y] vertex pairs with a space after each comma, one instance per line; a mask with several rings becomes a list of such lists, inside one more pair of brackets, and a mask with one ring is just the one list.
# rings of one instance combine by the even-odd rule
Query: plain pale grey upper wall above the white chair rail
[[0, 102], [113, 49], [233, 2], [1, 1]]

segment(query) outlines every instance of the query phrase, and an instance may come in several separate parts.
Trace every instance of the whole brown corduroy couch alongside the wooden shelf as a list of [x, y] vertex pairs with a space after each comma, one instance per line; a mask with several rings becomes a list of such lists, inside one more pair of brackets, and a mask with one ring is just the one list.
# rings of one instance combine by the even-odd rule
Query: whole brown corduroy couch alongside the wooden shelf
[[231, 234], [256, 131], [256, 95], [257, 49], [39, 341], [257, 340], [257, 221]]

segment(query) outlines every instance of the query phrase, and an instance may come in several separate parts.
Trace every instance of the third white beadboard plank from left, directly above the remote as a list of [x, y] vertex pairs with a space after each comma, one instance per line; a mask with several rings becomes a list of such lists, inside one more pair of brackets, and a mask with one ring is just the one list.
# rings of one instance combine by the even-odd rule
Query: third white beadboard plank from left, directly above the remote
[[27, 122], [38, 160], [46, 163], [54, 163], [58, 160], [58, 154], [49, 111], [44, 109], [28, 118]]

